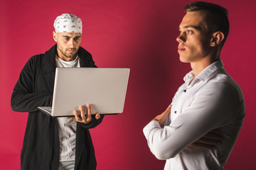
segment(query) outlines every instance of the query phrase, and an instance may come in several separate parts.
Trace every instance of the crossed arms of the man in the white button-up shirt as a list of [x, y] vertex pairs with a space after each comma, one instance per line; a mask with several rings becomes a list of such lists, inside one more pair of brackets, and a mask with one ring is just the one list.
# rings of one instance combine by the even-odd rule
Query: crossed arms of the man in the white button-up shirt
[[[212, 93], [211, 89], [215, 88], [218, 91]], [[222, 141], [216, 129], [232, 120], [237, 102], [233, 88], [218, 83], [202, 89], [183, 113], [164, 125], [171, 112], [172, 106], [169, 106], [143, 130], [151, 152], [158, 159], [170, 159], [186, 147], [214, 149]]]

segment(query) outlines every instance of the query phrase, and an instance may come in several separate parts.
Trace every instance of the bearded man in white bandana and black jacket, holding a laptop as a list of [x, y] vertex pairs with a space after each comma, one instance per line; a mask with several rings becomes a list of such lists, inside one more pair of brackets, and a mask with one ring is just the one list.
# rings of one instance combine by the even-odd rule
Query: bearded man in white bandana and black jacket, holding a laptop
[[55, 67], [97, 67], [92, 55], [80, 47], [80, 18], [63, 13], [55, 19], [54, 28], [56, 44], [28, 60], [11, 96], [14, 111], [28, 112], [21, 169], [96, 169], [88, 129], [99, 125], [103, 116], [91, 115], [89, 104], [87, 108], [80, 106], [80, 111], [74, 111], [73, 118], [53, 118], [38, 111], [38, 106], [52, 104]]

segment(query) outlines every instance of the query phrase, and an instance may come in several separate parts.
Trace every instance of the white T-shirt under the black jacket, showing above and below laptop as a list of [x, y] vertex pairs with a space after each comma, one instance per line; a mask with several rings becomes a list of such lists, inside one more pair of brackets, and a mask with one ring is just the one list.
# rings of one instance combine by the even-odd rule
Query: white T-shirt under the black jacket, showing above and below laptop
[[[57, 67], [80, 67], [79, 57], [71, 62], [55, 58]], [[72, 100], [72, 98], [70, 98]], [[57, 118], [60, 140], [60, 162], [75, 161], [75, 137], [77, 122], [69, 118]]]

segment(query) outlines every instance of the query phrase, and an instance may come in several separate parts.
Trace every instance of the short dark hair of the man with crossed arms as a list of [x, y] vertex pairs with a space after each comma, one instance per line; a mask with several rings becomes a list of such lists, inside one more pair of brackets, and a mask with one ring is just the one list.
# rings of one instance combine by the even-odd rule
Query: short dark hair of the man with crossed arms
[[224, 40], [221, 43], [223, 47], [229, 33], [228, 10], [217, 4], [204, 1], [196, 1], [184, 7], [186, 13], [192, 11], [206, 11], [206, 25], [211, 32], [221, 31], [224, 34]]

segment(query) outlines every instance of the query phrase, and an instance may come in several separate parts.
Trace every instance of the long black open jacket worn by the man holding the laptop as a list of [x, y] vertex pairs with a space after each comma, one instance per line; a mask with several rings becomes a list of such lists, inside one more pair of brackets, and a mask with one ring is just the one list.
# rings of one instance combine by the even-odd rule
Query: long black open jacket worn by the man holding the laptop
[[[23, 67], [11, 96], [13, 111], [28, 112], [28, 122], [21, 150], [21, 169], [57, 170], [59, 163], [59, 139], [55, 118], [41, 111], [38, 106], [51, 106], [55, 78], [54, 45], [44, 55], [35, 55]], [[96, 67], [92, 55], [80, 47], [81, 67]], [[76, 131], [75, 169], [96, 169], [95, 151], [89, 128], [102, 122], [78, 123]]]

